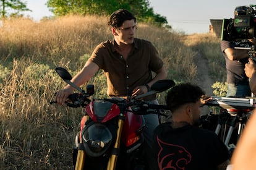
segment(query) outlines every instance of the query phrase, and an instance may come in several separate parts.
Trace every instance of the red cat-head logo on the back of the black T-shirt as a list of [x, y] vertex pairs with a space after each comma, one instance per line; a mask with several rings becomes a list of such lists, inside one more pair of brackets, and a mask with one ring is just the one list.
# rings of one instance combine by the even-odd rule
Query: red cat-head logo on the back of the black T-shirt
[[191, 161], [191, 154], [184, 147], [165, 143], [157, 137], [160, 147], [158, 167], [161, 170], [184, 170]]

